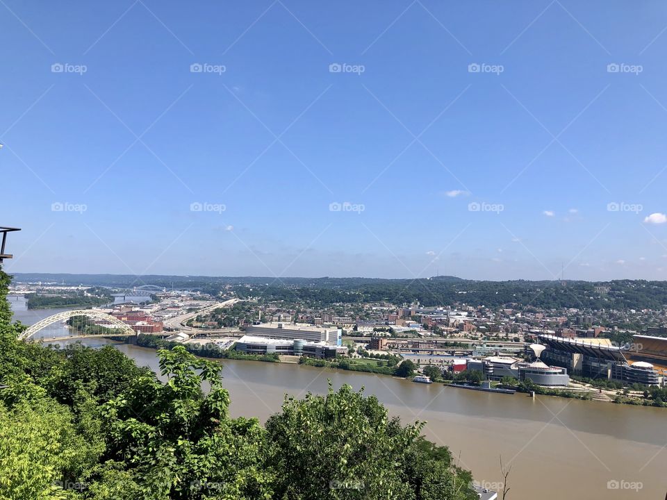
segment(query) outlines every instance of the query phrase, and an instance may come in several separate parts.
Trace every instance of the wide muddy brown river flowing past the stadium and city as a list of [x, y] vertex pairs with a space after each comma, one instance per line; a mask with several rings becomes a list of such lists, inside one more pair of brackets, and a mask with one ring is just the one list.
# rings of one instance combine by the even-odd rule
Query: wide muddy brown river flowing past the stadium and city
[[[38, 317], [55, 311], [29, 313]], [[29, 323], [25, 316], [22, 321]], [[157, 371], [154, 350], [129, 344], [116, 347], [138, 365]], [[286, 363], [224, 360], [222, 376], [231, 394], [231, 415], [262, 421], [280, 410], [286, 393], [322, 394], [328, 379], [334, 388], [344, 383], [356, 390], [364, 387], [365, 394], [377, 396], [404, 423], [426, 421], [426, 437], [450, 447], [454, 456], [460, 456], [461, 466], [484, 485], [497, 487], [502, 481], [502, 455], [504, 464], [512, 467], [508, 500], [662, 500], [667, 491], [664, 408], [532, 399], [525, 394], [491, 394]]]

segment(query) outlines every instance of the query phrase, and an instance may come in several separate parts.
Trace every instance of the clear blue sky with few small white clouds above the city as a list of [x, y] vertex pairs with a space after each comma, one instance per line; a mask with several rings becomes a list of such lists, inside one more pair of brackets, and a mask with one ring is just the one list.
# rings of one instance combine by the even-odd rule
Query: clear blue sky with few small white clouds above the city
[[0, 3], [9, 272], [667, 278], [664, 2]]

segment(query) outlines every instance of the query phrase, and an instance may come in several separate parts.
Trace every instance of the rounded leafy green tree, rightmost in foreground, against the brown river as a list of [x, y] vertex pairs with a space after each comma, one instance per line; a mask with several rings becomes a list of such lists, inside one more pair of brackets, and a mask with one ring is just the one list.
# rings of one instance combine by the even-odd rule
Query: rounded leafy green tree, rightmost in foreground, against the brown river
[[402, 426], [377, 398], [349, 385], [329, 387], [326, 396], [286, 398], [266, 424], [275, 498], [474, 498], [469, 480], [454, 478], [449, 451], [424, 448], [422, 426]]

